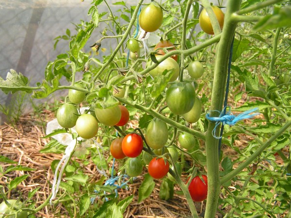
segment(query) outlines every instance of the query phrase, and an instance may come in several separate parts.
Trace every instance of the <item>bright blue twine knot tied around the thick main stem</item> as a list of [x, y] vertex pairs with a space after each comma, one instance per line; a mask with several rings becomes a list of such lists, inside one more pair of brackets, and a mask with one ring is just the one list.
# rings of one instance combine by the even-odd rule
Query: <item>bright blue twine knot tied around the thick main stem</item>
[[[227, 108], [229, 108], [228, 112], [226, 112], [225, 115], [223, 115], [225, 113], [225, 109], [223, 109], [222, 112], [218, 111], [218, 110], [212, 110], [212, 111], [216, 111], [216, 112], [219, 112], [220, 115], [219, 117], [210, 117], [210, 113], [206, 113], [206, 119], [210, 120], [210, 121], [213, 121], [213, 122], [216, 122], [215, 123], [215, 126], [212, 130], [212, 136], [215, 138], [215, 139], [221, 139], [222, 137], [217, 137], [215, 135], [215, 132], [216, 132], [216, 128], [220, 125], [220, 123], [222, 123], [223, 125], [227, 124], [227, 125], [235, 125], [237, 122], [241, 121], [241, 120], [244, 120], [244, 119], [250, 119], [252, 118], [253, 116], [256, 116], [256, 115], [259, 115], [259, 113], [253, 113], [253, 114], [250, 114], [252, 112], [255, 112], [258, 110], [258, 108], [254, 108], [254, 109], [249, 109], [249, 110], [246, 110], [246, 111], [243, 111], [241, 114], [235, 116], [233, 115], [231, 112], [230, 112], [230, 107], [228, 106]], [[210, 111], [211, 112], [211, 111]]]

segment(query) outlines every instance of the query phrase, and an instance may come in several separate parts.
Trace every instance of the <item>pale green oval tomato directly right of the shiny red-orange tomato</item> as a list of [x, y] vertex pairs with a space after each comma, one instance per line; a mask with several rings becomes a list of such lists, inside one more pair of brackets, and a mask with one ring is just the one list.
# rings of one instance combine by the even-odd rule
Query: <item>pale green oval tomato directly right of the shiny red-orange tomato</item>
[[162, 148], [168, 140], [168, 127], [160, 119], [153, 119], [146, 128], [146, 143], [153, 149]]

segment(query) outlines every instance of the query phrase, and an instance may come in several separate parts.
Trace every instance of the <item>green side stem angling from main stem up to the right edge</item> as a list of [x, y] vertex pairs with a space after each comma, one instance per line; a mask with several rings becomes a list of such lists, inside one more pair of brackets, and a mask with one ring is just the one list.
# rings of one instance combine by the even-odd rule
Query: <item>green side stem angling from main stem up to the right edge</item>
[[244, 168], [251, 164], [257, 156], [259, 156], [273, 141], [275, 141], [280, 135], [284, 133], [291, 126], [291, 119], [287, 121], [273, 136], [270, 137], [257, 151], [254, 152], [245, 162], [243, 162], [238, 168], [229, 172], [220, 179], [221, 184], [224, 184], [240, 173]]

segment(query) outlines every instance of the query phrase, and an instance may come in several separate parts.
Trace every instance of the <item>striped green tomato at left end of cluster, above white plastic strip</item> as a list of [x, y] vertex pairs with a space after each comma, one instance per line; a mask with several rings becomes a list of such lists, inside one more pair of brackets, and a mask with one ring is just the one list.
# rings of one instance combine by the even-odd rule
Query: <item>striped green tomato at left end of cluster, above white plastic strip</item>
[[72, 128], [76, 125], [78, 119], [78, 110], [75, 105], [66, 103], [57, 111], [57, 120], [59, 125], [64, 128]]

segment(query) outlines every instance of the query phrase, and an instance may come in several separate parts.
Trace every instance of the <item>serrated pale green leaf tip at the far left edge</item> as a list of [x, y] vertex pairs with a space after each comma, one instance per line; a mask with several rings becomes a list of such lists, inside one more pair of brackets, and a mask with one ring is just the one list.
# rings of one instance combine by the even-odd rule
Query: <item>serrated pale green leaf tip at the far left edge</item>
[[6, 94], [18, 91], [32, 93], [33, 90], [32, 87], [28, 86], [28, 78], [21, 73], [17, 74], [13, 69], [7, 73], [6, 80], [0, 77], [0, 89]]

